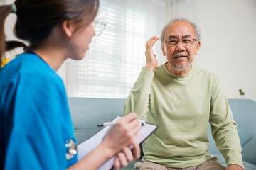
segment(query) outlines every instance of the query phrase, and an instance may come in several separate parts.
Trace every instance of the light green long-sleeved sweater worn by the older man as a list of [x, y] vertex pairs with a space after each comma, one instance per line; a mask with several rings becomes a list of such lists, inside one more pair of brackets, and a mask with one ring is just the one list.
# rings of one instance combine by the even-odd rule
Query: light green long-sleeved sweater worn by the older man
[[163, 65], [154, 72], [142, 68], [124, 106], [124, 115], [147, 114], [159, 126], [146, 140], [143, 159], [184, 168], [209, 159], [208, 123], [227, 164], [243, 167], [237, 124], [214, 74], [193, 66], [185, 76]]

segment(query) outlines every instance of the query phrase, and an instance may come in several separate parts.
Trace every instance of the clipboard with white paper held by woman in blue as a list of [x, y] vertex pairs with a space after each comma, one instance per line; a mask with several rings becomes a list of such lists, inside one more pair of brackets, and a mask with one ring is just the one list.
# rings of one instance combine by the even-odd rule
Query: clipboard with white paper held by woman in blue
[[[117, 116], [112, 122], [116, 122], [120, 117]], [[86, 140], [85, 142], [82, 142], [80, 145], [78, 145], [78, 161], [85, 157], [87, 154], [89, 154], [97, 145], [100, 145], [100, 142], [102, 142], [105, 134], [107, 133], [107, 130], [109, 130], [110, 126], [106, 126], [99, 132], [97, 132], [94, 136], [92, 136], [89, 140]], [[154, 131], [156, 131], [158, 128], [157, 125], [153, 125], [151, 123], [144, 123], [142, 126], [142, 130], [138, 132], [136, 142], [142, 143], [144, 140], [146, 140], [147, 137], [153, 134]], [[114, 159], [116, 156], [108, 159], [104, 164], [98, 168], [98, 170], [106, 170], [106, 169], [112, 169], [112, 166], [114, 166]]]

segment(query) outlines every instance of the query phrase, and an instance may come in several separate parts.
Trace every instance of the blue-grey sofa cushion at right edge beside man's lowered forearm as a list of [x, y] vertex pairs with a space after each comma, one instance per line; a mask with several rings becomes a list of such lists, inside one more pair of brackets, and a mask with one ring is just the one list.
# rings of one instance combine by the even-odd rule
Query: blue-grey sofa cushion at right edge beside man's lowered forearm
[[245, 162], [256, 165], [256, 137], [252, 137], [252, 139], [242, 147], [242, 159]]

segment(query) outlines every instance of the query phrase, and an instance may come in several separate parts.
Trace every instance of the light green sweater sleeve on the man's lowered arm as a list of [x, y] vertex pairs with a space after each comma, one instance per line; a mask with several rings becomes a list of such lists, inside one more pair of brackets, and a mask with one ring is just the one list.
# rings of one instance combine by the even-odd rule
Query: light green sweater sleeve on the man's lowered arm
[[243, 167], [237, 123], [233, 119], [228, 100], [220, 88], [217, 77], [214, 78], [211, 86], [209, 121], [213, 139], [223, 154], [226, 164], [238, 164]]

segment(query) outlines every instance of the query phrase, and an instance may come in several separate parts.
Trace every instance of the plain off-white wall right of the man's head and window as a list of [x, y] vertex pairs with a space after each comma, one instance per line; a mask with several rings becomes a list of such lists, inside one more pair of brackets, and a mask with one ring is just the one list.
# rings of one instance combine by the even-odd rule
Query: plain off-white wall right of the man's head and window
[[201, 49], [194, 64], [214, 72], [228, 98], [256, 101], [256, 1], [193, 0], [176, 2], [173, 17], [186, 17], [201, 28]]

